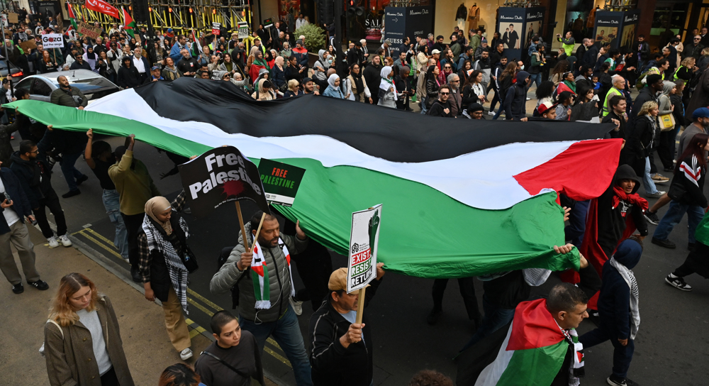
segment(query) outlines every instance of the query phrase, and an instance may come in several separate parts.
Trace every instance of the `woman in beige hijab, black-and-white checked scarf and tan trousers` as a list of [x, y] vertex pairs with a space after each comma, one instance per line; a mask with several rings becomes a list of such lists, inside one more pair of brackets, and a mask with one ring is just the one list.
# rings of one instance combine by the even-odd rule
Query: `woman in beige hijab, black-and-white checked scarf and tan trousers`
[[187, 246], [189, 228], [180, 216], [183, 207], [184, 190], [173, 202], [162, 196], [145, 202], [143, 228], [138, 233], [138, 270], [143, 277], [145, 299], [160, 299], [167, 335], [180, 358], [187, 360], [192, 357], [184, 321], [184, 315], [189, 314], [187, 274], [196, 270], [197, 262]]

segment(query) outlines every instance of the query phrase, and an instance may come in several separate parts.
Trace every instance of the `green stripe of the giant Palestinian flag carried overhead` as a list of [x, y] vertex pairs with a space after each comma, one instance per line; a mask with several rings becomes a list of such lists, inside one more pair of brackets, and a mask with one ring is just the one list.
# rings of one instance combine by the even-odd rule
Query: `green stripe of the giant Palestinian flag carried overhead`
[[[59, 129], [93, 128], [111, 136], [135, 133], [138, 140], [184, 156], [210, 148], [121, 116], [31, 100], [5, 106]], [[253, 157], [248, 148], [243, 150]], [[428, 185], [363, 167], [323, 167], [311, 158], [277, 160], [306, 169], [294, 206], [279, 211], [291, 220], [299, 219], [309, 236], [337, 253], [346, 254], [349, 248], [350, 218], [342, 214], [382, 203], [388, 215], [381, 225], [381, 235], [386, 237], [379, 241], [379, 260], [387, 270], [435, 278], [520, 268], [578, 268], [576, 250], [557, 255], [551, 248], [564, 243], [563, 211], [553, 192], [508, 209], [484, 210]]]

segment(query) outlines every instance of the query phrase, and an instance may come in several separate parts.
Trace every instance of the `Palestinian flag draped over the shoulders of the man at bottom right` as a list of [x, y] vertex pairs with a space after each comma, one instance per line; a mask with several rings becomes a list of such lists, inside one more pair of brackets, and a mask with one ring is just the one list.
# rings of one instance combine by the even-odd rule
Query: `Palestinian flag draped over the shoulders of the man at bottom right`
[[518, 304], [511, 324], [468, 348], [457, 362], [461, 386], [566, 386], [579, 385], [574, 374], [581, 375], [584, 354], [576, 331], [562, 330], [547, 300], [537, 299]]

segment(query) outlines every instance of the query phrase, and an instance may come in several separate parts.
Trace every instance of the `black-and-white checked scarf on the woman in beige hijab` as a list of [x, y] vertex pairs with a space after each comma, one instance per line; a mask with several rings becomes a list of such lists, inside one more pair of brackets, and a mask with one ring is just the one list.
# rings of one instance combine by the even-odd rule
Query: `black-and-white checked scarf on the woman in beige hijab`
[[[173, 215], [177, 214], [173, 213]], [[185, 237], [189, 236], [187, 223], [182, 217], [179, 219], [179, 225], [182, 227]], [[184, 263], [182, 263], [182, 259], [177, 255], [177, 251], [172, 246], [172, 243], [162, 237], [162, 234], [155, 228], [155, 225], [150, 221], [150, 216], [147, 216], [147, 214], [143, 219], [143, 231], [145, 231], [147, 238], [147, 248], [151, 252], [153, 249], [157, 249], [157, 251], [164, 256], [167, 272], [170, 275], [170, 282], [172, 283], [172, 289], [174, 289], [175, 294], [177, 294], [177, 299], [179, 299], [182, 305], [184, 314], [189, 315], [189, 311], [187, 311], [187, 268], [184, 267]], [[183, 246], [183, 248], [186, 248], [186, 246]]]

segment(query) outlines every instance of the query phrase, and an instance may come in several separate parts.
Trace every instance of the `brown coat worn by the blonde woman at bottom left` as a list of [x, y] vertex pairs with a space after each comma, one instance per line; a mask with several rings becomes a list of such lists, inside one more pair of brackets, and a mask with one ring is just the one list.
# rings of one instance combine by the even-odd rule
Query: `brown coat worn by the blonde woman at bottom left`
[[[108, 358], [111, 358], [113, 370], [116, 371], [118, 383], [121, 386], [134, 386], [123, 353], [118, 319], [108, 297], [101, 297], [99, 304], [96, 304], [96, 312], [99, 314], [106, 351]], [[62, 327], [62, 331], [59, 331], [55, 324], [48, 322], [45, 325], [45, 360], [52, 386], [101, 386], [91, 333], [79, 321], [72, 326]]]

